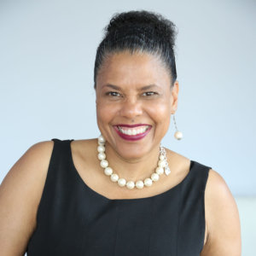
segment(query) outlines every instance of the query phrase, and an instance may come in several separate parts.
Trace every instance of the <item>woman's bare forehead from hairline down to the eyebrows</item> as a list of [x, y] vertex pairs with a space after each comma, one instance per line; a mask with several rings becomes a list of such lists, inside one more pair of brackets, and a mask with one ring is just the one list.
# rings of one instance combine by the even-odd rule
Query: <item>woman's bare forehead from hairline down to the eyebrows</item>
[[122, 51], [108, 55], [97, 74], [97, 86], [144, 86], [162, 84], [170, 86], [171, 76], [160, 57], [148, 53]]

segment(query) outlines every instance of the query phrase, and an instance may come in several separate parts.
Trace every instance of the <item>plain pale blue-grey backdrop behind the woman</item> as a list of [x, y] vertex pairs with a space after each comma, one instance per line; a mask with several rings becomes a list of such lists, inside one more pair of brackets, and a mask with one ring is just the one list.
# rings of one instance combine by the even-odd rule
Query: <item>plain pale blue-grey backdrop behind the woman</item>
[[97, 137], [93, 68], [116, 12], [147, 9], [178, 29], [180, 83], [163, 145], [211, 166], [233, 195], [256, 195], [256, 2], [1, 1], [0, 181], [32, 144]]

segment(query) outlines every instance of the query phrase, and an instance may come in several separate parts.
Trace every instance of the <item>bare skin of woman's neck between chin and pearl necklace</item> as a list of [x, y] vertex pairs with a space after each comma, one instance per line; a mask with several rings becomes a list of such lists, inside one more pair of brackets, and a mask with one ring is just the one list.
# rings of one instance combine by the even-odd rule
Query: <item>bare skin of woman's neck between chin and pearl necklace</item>
[[160, 155], [160, 145], [152, 148], [143, 157], [133, 159], [125, 159], [109, 143], [105, 144], [105, 148], [109, 166], [113, 168], [114, 173], [118, 174], [119, 177], [124, 177], [126, 181], [137, 181], [150, 177], [157, 167]]

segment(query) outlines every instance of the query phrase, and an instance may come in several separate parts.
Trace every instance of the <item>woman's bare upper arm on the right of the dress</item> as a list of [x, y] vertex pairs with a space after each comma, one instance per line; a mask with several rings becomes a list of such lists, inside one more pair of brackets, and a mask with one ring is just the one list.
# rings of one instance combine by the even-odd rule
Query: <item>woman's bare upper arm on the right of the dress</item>
[[236, 201], [218, 172], [210, 170], [205, 191], [207, 242], [201, 256], [241, 256]]

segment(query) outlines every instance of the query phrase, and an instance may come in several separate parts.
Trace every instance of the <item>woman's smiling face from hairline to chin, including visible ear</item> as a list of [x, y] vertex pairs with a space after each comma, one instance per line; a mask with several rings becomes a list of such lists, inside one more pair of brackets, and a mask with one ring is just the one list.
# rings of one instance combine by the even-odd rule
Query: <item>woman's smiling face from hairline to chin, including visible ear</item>
[[96, 78], [97, 124], [124, 159], [158, 149], [177, 108], [177, 82], [154, 55], [109, 55]]

